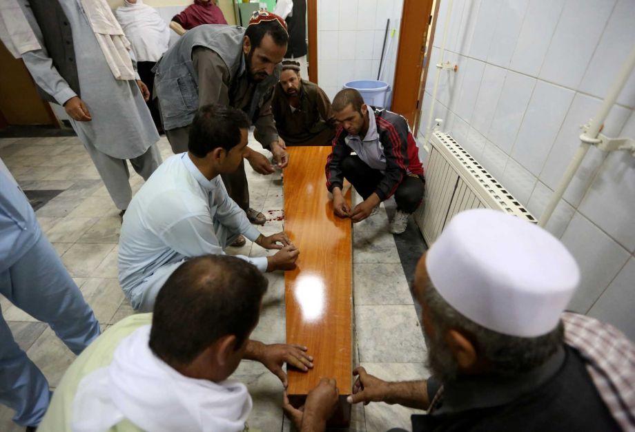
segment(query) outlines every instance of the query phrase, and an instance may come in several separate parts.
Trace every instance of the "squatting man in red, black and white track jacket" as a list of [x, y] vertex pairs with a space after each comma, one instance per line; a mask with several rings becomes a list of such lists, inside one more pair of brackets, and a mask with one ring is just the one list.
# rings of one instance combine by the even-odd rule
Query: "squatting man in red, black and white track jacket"
[[[394, 194], [397, 212], [390, 231], [401, 234], [424, 194], [419, 148], [408, 122], [394, 112], [369, 107], [351, 88], [335, 95], [333, 115], [340, 125], [326, 161], [326, 187], [333, 194], [335, 215], [360, 222]], [[352, 212], [342, 194], [344, 178], [364, 198]]]

